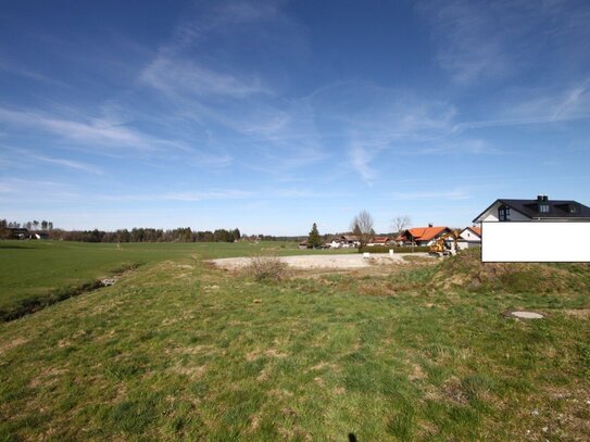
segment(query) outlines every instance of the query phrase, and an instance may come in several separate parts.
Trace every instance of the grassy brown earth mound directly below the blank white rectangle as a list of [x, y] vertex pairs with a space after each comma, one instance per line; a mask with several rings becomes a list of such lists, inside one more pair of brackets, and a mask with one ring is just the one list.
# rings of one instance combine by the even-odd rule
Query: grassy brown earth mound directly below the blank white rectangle
[[465, 250], [438, 265], [435, 288], [472, 291], [555, 293], [590, 289], [589, 264], [482, 263], [478, 250]]

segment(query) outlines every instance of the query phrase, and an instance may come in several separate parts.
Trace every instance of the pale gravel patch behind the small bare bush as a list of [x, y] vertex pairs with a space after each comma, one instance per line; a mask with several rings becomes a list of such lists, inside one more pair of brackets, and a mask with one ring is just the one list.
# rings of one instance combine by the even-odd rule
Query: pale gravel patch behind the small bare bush
[[[390, 256], [387, 253], [372, 253], [364, 257], [360, 253], [346, 255], [299, 255], [281, 256], [280, 260], [292, 268], [363, 268], [372, 265], [405, 264], [403, 256], [428, 256], [428, 253], [397, 253]], [[249, 257], [225, 257], [212, 260], [221, 268], [236, 269], [247, 266]]]

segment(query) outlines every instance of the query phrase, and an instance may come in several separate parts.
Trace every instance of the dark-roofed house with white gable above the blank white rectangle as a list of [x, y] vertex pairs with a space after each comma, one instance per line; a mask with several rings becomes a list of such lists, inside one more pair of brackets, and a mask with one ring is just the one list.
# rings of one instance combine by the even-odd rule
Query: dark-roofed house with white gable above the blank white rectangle
[[536, 200], [495, 200], [476, 216], [474, 223], [487, 222], [588, 222], [590, 207], [572, 200], [550, 200], [538, 195]]

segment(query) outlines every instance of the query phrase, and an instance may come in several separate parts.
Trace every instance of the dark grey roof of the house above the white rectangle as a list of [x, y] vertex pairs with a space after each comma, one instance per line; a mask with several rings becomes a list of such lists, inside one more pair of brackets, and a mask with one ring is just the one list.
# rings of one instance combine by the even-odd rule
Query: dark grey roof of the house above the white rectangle
[[[498, 199], [477, 215], [474, 223], [495, 203], [502, 203], [531, 219], [590, 219], [590, 207], [573, 200], [509, 200]], [[539, 212], [539, 204], [549, 204], [549, 213]], [[575, 211], [573, 211], [575, 209]]]

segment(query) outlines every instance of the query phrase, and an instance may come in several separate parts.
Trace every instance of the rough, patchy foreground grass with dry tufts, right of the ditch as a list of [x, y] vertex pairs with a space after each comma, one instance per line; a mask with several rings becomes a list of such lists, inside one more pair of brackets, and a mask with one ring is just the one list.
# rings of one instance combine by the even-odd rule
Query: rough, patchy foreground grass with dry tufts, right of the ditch
[[230, 245], [0, 324], [0, 440], [588, 440], [588, 266], [261, 282], [202, 262]]

